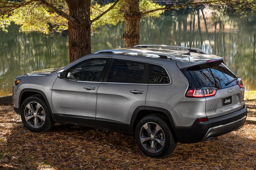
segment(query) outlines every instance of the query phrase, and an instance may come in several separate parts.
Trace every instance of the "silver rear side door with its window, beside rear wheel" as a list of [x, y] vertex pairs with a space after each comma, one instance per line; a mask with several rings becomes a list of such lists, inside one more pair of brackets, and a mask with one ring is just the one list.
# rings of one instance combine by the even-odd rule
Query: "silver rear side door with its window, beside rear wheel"
[[96, 123], [99, 127], [127, 131], [134, 110], [145, 106], [147, 63], [112, 59], [108, 75], [98, 89]]

